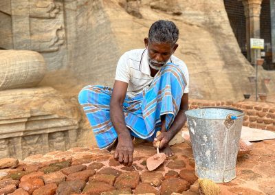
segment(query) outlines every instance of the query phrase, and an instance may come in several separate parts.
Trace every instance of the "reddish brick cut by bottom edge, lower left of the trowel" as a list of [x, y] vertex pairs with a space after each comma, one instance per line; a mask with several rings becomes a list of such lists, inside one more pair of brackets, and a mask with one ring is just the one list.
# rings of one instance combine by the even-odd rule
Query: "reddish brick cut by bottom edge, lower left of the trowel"
[[107, 184], [107, 183], [88, 183], [85, 187], [83, 192], [87, 194], [94, 194], [94, 195], [100, 195], [102, 192], [109, 192], [115, 190], [115, 187]]

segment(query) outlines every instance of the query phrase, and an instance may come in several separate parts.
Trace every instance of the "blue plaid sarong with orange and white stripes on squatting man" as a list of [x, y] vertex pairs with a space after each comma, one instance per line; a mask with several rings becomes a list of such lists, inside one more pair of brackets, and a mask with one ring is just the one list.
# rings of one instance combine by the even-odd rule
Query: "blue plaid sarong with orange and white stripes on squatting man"
[[[158, 71], [150, 87], [134, 98], [126, 95], [123, 112], [131, 135], [153, 141], [161, 128], [161, 115], [166, 115], [168, 130], [179, 111], [185, 87], [184, 73], [177, 65], [168, 63]], [[89, 85], [78, 95], [100, 149], [107, 148], [118, 137], [110, 118], [111, 93], [109, 87]]]

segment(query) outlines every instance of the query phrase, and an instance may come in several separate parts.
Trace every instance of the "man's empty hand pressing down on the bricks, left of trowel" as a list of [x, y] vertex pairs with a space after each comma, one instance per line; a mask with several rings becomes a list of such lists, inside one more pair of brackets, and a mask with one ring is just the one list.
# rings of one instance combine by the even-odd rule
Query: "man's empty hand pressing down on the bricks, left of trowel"
[[115, 148], [113, 156], [115, 161], [123, 163], [125, 166], [131, 166], [133, 163], [133, 141], [131, 135], [119, 136], [118, 146]]

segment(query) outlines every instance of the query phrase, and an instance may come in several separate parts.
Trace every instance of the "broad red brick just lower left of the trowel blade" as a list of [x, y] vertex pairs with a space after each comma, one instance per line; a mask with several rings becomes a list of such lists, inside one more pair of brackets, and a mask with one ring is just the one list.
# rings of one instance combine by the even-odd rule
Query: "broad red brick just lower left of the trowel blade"
[[135, 189], [139, 182], [140, 174], [138, 172], [123, 172], [115, 180], [115, 188], [131, 187], [131, 189]]

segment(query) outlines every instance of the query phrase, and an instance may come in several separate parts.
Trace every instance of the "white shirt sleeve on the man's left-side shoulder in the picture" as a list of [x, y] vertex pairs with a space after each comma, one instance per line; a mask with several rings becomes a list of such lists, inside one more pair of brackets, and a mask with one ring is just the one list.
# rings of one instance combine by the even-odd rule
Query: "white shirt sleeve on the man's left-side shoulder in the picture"
[[126, 83], [130, 81], [130, 68], [126, 54], [123, 54], [118, 60], [118, 65], [115, 71], [115, 80], [120, 80]]

